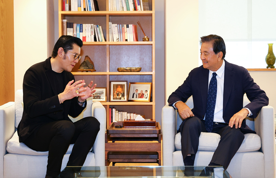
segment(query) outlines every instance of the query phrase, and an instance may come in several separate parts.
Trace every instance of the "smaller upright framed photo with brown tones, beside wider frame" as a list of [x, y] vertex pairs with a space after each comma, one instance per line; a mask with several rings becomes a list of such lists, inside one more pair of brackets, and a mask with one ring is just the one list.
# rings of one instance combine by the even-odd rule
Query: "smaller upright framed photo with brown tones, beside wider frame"
[[110, 81], [110, 102], [127, 101], [127, 81]]

